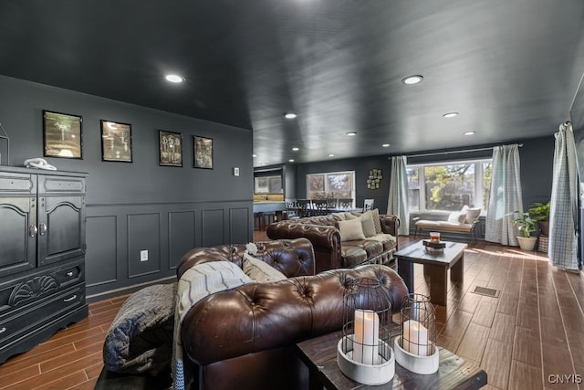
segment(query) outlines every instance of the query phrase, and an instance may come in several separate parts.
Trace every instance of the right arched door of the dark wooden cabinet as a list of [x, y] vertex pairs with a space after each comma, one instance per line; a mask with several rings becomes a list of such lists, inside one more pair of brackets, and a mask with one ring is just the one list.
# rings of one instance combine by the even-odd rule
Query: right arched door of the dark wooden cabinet
[[82, 196], [39, 198], [38, 258], [40, 265], [85, 252], [85, 213]]

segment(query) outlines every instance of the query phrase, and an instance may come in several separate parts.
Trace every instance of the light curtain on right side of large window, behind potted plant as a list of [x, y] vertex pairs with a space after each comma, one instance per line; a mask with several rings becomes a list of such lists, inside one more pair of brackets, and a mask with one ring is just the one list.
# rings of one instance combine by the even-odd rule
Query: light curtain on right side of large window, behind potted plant
[[517, 247], [514, 211], [523, 213], [519, 145], [493, 147], [493, 176], [486, 207], [485, 241]]

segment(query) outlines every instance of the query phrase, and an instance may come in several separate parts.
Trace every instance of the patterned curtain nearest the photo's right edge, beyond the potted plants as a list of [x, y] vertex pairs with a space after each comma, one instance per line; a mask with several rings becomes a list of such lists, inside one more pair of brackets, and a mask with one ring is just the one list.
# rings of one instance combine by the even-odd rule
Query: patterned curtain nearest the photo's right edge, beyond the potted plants
[[562, 123], [554, 136], [556, 148], [547, 257], [560, 269], [578, 270], [578, 173], [571, 123]]

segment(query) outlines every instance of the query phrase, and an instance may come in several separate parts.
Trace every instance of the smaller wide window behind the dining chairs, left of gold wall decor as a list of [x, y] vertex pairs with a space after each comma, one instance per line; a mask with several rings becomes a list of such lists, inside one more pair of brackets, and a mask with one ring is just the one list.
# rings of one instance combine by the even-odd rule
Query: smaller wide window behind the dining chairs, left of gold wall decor
[[329, 172], [307, 174], [308, 199], [350, 198], [355, 199], [355, 173]]

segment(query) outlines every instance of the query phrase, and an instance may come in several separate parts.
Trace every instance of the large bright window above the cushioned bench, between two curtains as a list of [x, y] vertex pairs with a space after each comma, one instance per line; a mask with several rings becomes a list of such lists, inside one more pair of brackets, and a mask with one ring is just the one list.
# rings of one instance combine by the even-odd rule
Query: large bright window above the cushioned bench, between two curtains
[[491, 159], [408, 165], [410, 211], [456, 211], [465, 205], [485, 211], [491, 171]]

